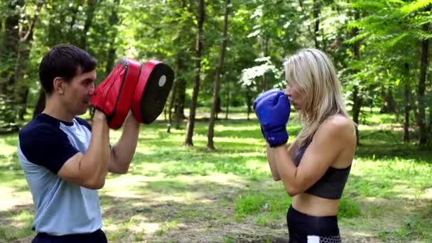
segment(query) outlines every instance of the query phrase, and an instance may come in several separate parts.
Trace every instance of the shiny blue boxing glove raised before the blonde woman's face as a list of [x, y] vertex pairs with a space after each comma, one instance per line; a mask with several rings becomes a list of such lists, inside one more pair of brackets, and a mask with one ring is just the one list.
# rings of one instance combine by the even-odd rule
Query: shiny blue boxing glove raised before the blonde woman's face
[[288, 123], [291, 109], [288, 97], [284, 95], [284, 92], [270, 92], [261, 97], [254, 105], [254, 110], [270, 146], [285, 144], [288, 141], [286, 123]]

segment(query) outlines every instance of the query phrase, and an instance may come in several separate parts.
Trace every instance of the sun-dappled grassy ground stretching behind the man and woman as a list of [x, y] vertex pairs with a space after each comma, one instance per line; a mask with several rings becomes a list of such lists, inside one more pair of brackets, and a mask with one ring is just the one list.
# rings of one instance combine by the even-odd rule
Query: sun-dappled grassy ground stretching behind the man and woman
[[[198, 113], [200, 115], [200, 113]], [[220, 116], [224, 117], [224, 116]], [[277, 242], [286, 239], [291, 199], [272, 181], [256, 120], [217, 121], [216, 151], [207, 123], [141, 127], [126, 175], [109, 175], [99, 190], [109, 242]], [[252, 116], [253, 117], [253, 116]], [[362, 117], [361, 143], [340, 201], [344, 242], [432, 242], [432, 153], [401, 142], [394, 116]], [[299, 126], [288, 126], [290, 141]], [[112, 143], [121, 131], [110, 131]], [[34, 236], [33, 202], [16, 156], [16, 134], [0, 136], [0, 242]]]

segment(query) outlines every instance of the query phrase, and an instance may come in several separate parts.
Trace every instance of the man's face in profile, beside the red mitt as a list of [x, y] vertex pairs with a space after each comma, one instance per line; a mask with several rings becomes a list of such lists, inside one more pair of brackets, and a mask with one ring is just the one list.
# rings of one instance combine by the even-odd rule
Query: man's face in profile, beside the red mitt
[[90, 107], [95, 90], [96, 71], [82, 72], [65, 84], [64, 101], [74, 115], [85, 114]]

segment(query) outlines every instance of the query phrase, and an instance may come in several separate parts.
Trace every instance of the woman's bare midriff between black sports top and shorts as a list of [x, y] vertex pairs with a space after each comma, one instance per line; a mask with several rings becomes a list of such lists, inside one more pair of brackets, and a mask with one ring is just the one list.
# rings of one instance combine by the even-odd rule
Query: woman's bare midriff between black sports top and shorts
[[298, 212], [317, 217], [337, 215], [338, 204], [338, 199], [319, 198], [307, 193], [294, 196], [292, 202], [294, 209]]

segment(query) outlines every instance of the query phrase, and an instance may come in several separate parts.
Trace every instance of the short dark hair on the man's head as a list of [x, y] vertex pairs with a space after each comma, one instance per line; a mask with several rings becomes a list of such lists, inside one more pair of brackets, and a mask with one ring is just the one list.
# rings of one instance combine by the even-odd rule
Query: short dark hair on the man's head
[[45, 92], [53, 92], [53, 80], [62, 77], [66, 82], [81, 72], [95, 70], [97, 60], [75, 45], [55, 45], [45, 54], [39, 65], [39, 78]]

